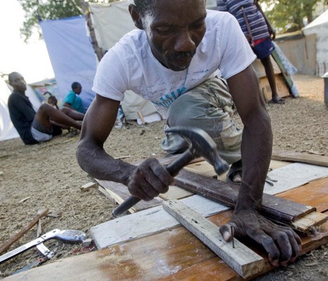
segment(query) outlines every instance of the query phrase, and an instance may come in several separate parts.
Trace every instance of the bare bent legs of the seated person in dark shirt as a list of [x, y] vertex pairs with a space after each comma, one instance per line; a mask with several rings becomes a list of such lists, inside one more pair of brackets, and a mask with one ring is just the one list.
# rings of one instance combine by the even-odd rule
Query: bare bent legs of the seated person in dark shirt
[[78, 123], [62, 111], [51, 107], [49, 104], [41, 104], [41, 107], [39, 107], [39, 110], [36, 112], [34, 119], [39, 121], [39, 123], [49, 130], [51, 128], [50, 120], [58, 124], [67, 125], [69, 127], [81, 130], [81, 123]]

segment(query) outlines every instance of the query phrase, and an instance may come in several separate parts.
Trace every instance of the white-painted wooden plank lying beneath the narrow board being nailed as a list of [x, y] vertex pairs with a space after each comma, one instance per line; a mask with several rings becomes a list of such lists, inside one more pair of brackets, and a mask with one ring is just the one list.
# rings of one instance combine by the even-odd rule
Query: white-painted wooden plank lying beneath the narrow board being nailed
[[[229, 209], [202, 196], [184, 198], [182, 202], [204, 217]], [[178, 225], [179, 222], [165, 212], [162, 206], [157, 206], [93, 226], [90, 228], [90, 235], [95, 240], [97, 249], [104, 249], [122, 242], [163, 232]]]

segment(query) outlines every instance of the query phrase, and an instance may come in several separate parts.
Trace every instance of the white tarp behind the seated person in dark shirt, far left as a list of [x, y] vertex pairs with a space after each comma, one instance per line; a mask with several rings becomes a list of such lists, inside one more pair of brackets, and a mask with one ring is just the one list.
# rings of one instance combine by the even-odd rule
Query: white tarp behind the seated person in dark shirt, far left
[[[8, 97], [11, 95], [11, 90], [8, 88], [4, 78], [0, 77], [0, 141], [6, 139], [14, 139], [20, 137], [17, 130], [11, 123], [11, 116], [8, 111]], [[31, 86], [27, 85], [25, 95], [29, 97], [35, 110], [39, 109], [41, 100], [36, 95]]]

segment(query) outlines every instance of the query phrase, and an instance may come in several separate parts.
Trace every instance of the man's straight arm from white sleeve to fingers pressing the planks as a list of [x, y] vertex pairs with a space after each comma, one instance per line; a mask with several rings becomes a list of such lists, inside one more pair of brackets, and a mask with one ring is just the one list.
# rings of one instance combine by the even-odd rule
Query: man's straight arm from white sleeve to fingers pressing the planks
[[296, 259], [301, 240], [291, 228], [277, 226], [259, 215], [272, 152], [271, 121], [252, 66], [227, 79], [228, 86], [244, 124], [242, 132], [242, 184], [233, 219], [221, 226], [226, 240], [231, 227], [236, 235], [248, 236], [261, 244], [273, 266], [287, 266]]

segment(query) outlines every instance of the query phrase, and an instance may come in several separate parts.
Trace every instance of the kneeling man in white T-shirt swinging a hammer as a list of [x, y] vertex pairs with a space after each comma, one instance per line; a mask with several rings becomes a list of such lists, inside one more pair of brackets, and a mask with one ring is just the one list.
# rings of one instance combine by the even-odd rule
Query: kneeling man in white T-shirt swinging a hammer
[[[255, 55], [237, 20], [229, 13], [206, 11], [205, 2], [135, 0], [129, 6], [138, 30], [125, 34], [100, 62], [93, 86], [97, 95], [83, 121], [78, 163], [97, 179], [125, 184], [132, 196], [143, 200], [168, 191], [173, 178], [155, 158], [135, 167], [104, 151], [127, 89], [151, 100], [158, 110], [168, 108], [168, 126], [203, 128], [228, 163], [240, 163], [241, 131], [230, 119], [230, 92], [245, 126], [242, 183], [233, 218], [220, 232], [231, 240], [232, 226], [236, 236], [249, 236], [263, 245], [274, 266], [287, 266], [299, 253], [299, 236], [258, 213], [272, 132], [251, 66]], [[229, 92], [218, 76], [226, 78]], [[186, 146], [177, 135], [167, 135], [163, 142], [170, 152]]]

